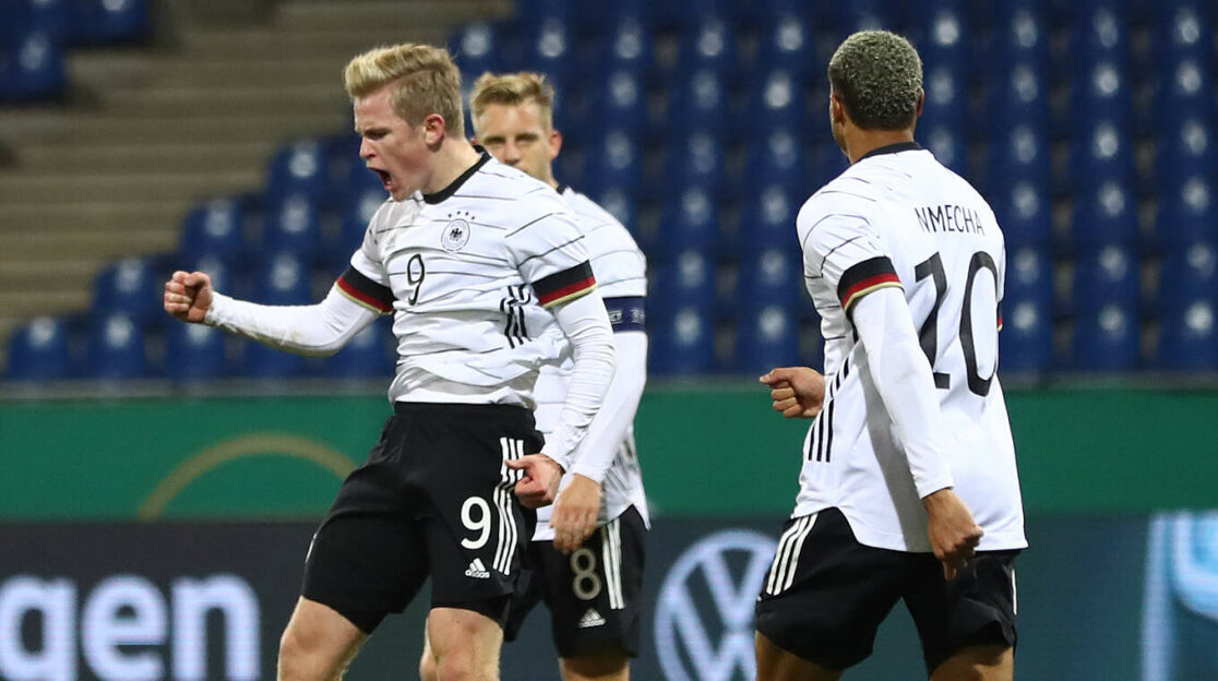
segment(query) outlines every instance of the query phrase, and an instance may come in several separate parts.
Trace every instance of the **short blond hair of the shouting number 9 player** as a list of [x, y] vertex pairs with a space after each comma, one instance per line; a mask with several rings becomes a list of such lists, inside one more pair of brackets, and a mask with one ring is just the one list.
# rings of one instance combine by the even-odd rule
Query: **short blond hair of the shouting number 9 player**
[[403, 43], [369, 50], [347, 63], [342, 82], [351, 101], [393, 84], [393, 111], [412, 125], [432, 113], [445, 119], [445, 134], [465, 136], [460, 71], [447, 50]]

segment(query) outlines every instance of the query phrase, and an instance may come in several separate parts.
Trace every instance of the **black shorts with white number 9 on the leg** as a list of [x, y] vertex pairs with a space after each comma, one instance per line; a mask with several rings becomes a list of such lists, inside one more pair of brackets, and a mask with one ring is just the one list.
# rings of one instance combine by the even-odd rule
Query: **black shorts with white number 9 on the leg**
[[541, 451], [532, 412], [504, 404], [397, 403], [368, 462], [342, 482], [309, 547], [302, 595], [370, 633], [431, 576], [432, 607], [499, 624], [524, 587], [536, 514], [504, 459]]

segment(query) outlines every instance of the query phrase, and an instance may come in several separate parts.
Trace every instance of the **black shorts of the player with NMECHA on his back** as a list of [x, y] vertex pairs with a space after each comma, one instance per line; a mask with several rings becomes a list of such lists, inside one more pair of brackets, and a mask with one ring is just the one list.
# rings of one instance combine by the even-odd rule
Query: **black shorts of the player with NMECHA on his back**
[[879, 623], [904, 599], [932, 672], [967, 646], [1016, 644], [1018, 553], [980, 552], [948, 582], [931, 553], [859, 543], [837, 508], [794, 518], [761, 584], [756, 629], [800, 658], [845, 669], [871, 654]]

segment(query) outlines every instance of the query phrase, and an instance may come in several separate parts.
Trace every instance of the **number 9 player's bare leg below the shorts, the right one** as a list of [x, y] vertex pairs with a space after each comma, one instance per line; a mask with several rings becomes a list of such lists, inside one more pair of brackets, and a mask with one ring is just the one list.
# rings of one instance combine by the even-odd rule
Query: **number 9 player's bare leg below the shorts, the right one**
[[465, 608], [432, 608], [428, 641], [440, 679], [495, 677], [498, 672], [503, 629], [492, 618]]

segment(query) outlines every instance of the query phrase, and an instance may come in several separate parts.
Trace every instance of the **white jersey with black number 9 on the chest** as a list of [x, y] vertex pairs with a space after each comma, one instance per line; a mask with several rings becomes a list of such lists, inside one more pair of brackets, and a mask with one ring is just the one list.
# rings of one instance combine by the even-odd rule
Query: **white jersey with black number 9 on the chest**
[[445, 190], [386, 201], [337, 286], [393, 314], [391, 401], [532, 408], [561, 351], [544, 307], [596, 288], [585, 241], [549, 185], [482, 152]]

